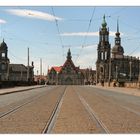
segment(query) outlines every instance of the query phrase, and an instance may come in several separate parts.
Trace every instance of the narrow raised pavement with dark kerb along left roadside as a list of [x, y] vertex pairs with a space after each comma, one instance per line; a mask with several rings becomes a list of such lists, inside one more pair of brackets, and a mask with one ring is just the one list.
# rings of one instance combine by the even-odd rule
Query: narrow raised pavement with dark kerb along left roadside
[[13, 92], [18, 92], [18, 91], [26, 91], [26, 90], [32, 90], [35, 88], [41, 88], [44, 87], [46, 85], [35, 85], [35, 86], [21, 86], [21, 87], [13, 87], [13, 88], [4, 88], [4, 89], [0, 89], [0, 95], [4, 95], [4, 94], [9, 94], [9, 93], [13, 93]]

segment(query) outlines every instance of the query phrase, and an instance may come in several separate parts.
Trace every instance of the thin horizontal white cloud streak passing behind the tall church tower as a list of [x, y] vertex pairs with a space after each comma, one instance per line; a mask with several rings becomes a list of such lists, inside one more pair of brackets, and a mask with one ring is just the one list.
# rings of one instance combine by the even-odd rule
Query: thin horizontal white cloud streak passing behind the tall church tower
[[[110, 36], [115, 36], [114, 31], [110, 31], [109, 35]], [[123, 33], [121, 33], [121, 35], [123, 35]], [[72, 32], [72, 33], [62, 33], [60, 34], [60, 36], [99, 36], [99, 32]]]

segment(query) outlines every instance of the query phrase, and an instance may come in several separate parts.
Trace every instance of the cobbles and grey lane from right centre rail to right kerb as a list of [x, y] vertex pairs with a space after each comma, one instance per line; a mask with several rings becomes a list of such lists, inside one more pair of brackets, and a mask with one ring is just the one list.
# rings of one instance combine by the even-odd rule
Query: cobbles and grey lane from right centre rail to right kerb
[[77, 90], [110, 133], [140, 133], [140, 97], [93, 87]]

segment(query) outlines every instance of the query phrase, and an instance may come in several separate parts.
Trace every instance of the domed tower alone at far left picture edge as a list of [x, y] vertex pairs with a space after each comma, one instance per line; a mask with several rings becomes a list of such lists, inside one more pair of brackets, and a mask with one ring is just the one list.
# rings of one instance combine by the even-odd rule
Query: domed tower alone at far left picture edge
[[9, 76], [9, 59], [8, 59], [8, 47], [3, 42], [0, 44], [0, 81], [8, 80]]

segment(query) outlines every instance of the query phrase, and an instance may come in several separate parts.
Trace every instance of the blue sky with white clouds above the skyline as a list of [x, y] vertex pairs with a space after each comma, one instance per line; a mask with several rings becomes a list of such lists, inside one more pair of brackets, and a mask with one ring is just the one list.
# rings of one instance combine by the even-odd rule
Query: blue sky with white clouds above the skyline
[[27, 65], [29, 47], [35, 74], [40, 59], [44, 74], [51, 66], [62, 66], [69, 48], [76, 66], [95, 69], [104, 14], [111, 47], [118, 19], [124, 54], [140, 57], [140, 7], [1, 6], [0, 42], [4, 38], [10, 63]]

